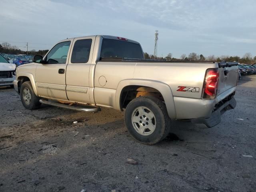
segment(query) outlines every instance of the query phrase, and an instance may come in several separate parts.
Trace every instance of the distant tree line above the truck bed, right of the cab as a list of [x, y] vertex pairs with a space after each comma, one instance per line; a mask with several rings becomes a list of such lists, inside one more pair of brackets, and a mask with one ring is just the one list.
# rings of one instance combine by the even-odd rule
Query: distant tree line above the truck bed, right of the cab
[[155, 58], [154, 55], [150, 55], [148, 53], [144, 53], [144, 58], [145, 59], [160, 59], [160, 60], [167, 60], [167, 61], [215, 61], [215, 62], [221, 62], [221, 61], [226, 61], [226, 62], [240, 62], [244, 64], [254, 64], [256, 63], [256, 56], [252, 58], [251, 53], [246, 53], [244, 56], [241, 58], [239, 56], [228, 56], [228, 55], [222, 55], [222, 56], [214, 56], [210, 55], [205, 57], [202, 54], [196, 54], [195, 52], [192, 52], [188, 55], [182, 54], [180, 58], [174, 58], [172, 57], [172, 53], [168, 53], [166, 57], [157, 57]]

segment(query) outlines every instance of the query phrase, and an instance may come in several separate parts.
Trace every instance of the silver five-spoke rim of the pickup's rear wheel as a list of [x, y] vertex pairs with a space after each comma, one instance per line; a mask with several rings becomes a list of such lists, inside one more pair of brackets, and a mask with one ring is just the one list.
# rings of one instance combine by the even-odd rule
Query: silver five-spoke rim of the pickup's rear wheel
[[132, 126], [141, 135], [147, 136], [156, 129], [156, 117], [154, 113], [146, 107], [137, 107], [132, 112]]

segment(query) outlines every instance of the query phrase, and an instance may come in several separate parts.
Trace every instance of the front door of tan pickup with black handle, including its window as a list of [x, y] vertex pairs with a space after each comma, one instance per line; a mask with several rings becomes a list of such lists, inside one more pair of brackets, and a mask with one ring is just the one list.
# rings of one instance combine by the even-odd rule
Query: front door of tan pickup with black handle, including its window
[[46, 64], [37, 64], [36, 86], [39, 96], [68, 100], [65, 76], [72, 41], [59, 42], [44, 57]]

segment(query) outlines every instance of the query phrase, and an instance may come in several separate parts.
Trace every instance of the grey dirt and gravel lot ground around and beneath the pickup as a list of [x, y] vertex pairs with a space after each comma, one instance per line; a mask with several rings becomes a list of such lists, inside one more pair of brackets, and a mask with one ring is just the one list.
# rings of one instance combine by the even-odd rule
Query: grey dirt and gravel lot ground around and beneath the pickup
[[173, 134], [145, 146], [124, 112], [25, 110], [0, 88], [0, 191], [256, 191], [256, 76], [243, 76], [235, 97], [217, 126], [173, 120]]

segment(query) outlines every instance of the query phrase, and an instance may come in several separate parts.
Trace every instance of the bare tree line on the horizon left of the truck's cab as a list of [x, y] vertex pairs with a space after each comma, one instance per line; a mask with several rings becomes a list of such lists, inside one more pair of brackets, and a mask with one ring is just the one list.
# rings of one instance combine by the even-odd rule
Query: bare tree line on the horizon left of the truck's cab
[[[38, 51], [36, 51], [36, 50], [33, 49], [33, 50], [28, 51], [28, 55], [42, 55], [42, 56], [44, 56], [47, 52], [48, 52], [48, 50], [38, 50]], [[27, 54], [26, 51], [22, 51], [17, 46], [12, 46], [8, 42], [3, 42], [2, 44], [0, 44], [0, 53], [14, 54], [14, 55]]]

